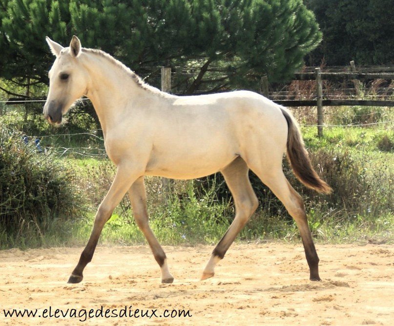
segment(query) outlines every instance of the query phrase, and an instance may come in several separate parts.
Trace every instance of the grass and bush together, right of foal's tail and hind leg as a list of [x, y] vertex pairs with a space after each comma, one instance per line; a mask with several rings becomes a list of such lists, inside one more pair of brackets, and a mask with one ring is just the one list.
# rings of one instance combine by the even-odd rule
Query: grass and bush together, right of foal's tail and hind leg
[[312, 161], [334, 189], [327, 197], [306, 194], [312, 229], [328, 240], [393, 240], [393, 130], [335, 127], [323, 139], [303, 131]]

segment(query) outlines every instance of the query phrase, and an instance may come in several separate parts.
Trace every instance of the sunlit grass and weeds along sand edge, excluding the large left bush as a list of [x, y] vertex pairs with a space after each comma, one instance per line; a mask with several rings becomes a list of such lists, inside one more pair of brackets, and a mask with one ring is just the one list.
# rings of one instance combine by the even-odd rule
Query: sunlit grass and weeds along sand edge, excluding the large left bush
[[[287, 171], [290, 183], [305, 200], [317, 242], [394, 243], [394, 131], [390, 126], [330, 127], [324, 129], [322, 138], [316, 136], [315, 127], [302, 127], [312, 161], [334, 188], [332, 196], [316, 195]], [[103, 147], [97, 139], [92, 144]], [[88, 205], [88, 213], [65, 221], [54, 219], [36, 240], [20, 237], [14, 241], [0, 233], [3, 248], [86, 244], [95, 211], [109, 189], [115, 169], [105, 158], [67, 154], [62, 161], [75, 172], [76, 186]], [[175, 181], [172, 191], [166, 194], [160, 178], [146, 177], [150, 226], [158, 240], [168, 245], [217, 243], [234, 215], [231, 201], [218, 196], [218, 189], [223, 190], [221, 182], [214, 178], [212, 186], [204, 188], [199, 181]], [[261, 184], [256, 189], [261, 208], [236, 241], [299, 242], [297, 227], [281, 203]], [[134, 222], [127, 196], [104, 227], [100, 243], [146, 243]]]

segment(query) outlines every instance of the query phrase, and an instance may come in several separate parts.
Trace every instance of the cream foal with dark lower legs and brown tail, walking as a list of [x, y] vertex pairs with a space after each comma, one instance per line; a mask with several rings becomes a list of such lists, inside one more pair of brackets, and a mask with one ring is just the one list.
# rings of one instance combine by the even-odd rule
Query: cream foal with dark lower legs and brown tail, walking
[[43, 115], [50, 124], [83, 96], [100, 120], [104, 145], [116, 166], [110, 189], [98, 207], [93, 229], [68, 283], [83, 280], [104, 224], [128, 192], [136, 224], [161, 269], [162, 283], [172, 283], [166, 254], [148, 223], [145, 175], [194, 179], [220, 172], [233, 197], [235, 217], [213, 249], [201, 280], [214, 276], [215, 265], [258, 206], [249, 169], [277, 196], [301, 234], [310, 280], [320, 281], [319, 258], [302, 197], [282, 171], [284, 153], [293, 173], [307, 187], [332, 189], [312, 167], [299, 126], [290, 111], [247, 90], [176, 96], [146, 84], [109, 54], [83, 48], [73, 36], [68, 47], [46, 37], [56, 59], [49, 70]]

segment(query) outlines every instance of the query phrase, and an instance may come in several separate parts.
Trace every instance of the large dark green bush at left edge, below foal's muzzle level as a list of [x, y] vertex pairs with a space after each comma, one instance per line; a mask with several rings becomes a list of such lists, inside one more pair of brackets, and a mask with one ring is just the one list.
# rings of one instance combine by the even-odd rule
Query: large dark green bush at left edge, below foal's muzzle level
[[82, 213], [82, 199], [73, 186], [72, 171], [54, 156], [39, 152], [34, 139], [25, 138], [24, 141], [23, 136], [21, 132], [0, 125], [0, 235], [3, 246], [4, 239], [21, 243], [21, 238], [40, 238], [54, 219]]

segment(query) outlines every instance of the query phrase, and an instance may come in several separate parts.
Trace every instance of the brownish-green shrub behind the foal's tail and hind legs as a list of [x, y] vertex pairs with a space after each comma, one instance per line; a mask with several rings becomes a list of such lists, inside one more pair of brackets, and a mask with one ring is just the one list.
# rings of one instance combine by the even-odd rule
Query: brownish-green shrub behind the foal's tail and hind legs
[[[343, 219], [358, 215], [375, 215], [391, 212], [394, 207], [392, 194], [394, 193], [394, 179], [389, 164], [369, 166], [365, 159], [354, 158], [354, 153], [346, 150], [319, 149], [311, 152], [311, 161], [317, 173], [333, 189], [331, 195], [320, 195], [306, 188], [292, 174], [286, 160], [283, 161], [284, 174], [290, 184], [303, 197], [307, 211], [320, 211], [321, 216], [332, 216], [339, 222]], [[290, 221], [285, 207], [273, 195], [270, 189], [260, 179], [249, 172], [253, 189], [259, 199], [259, 209], [263, 216], [275, 217]], [[201, 182], [201, 187], [209, 189], [211, 179], [207, 177]], [[215, 175], [216, 196], [219, 200], [231, 200], [231, 194], [223, 177]]]

